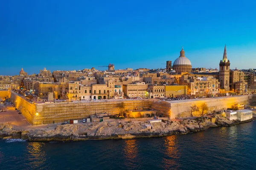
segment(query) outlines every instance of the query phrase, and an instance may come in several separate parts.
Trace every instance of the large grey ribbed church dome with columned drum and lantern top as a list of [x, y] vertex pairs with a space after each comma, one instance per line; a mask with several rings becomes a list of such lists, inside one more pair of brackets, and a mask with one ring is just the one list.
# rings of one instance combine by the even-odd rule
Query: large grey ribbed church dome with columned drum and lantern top
[[180, 57], [174, 61], [172, 69], [174, 69], [176, 72], [191, 72], [192, 65], [189, 59], [186, 58], [183, 47], [180, 51]]

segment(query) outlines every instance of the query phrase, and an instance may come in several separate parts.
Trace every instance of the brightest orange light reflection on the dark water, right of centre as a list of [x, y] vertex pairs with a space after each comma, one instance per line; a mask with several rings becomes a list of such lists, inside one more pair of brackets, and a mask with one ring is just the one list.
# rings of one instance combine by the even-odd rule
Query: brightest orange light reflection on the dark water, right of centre
[[180, 153], [177, 148], [177, 136], [167, 136], [164, 138], [164, 144], [163, 147], [165, 147], [164, 156], [163, 156], [163, 168], [164, 169], [172, 169], [172, 168], [179, 168], [179, 158]]

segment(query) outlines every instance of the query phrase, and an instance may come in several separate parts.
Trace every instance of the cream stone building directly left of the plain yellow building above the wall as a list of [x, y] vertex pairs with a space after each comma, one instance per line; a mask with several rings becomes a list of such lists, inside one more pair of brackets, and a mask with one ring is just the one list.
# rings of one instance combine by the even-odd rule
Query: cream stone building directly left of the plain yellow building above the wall
[[147, 95], [149, 98], [164, 98], [165, 86], [164, 85], [148, 85]]

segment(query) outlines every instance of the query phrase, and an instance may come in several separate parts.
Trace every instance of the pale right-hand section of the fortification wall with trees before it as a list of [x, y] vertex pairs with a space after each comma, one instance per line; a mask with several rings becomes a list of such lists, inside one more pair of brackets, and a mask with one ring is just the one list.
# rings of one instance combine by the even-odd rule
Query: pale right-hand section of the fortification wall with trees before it
[[[176, 117], [189, 117], [191, 115], [191, 106], [195, 104], [199, 107], [197, 112], [193, 112], [193, 115], [201, 115], [201, 104], [206, 103], [209, 107], [209, 112], [221, 111], [227, 108], [231, 108], [234, 104], [249, 104], [249, 95], [221, 97], [221, 98], [204, 98], [204, 99], [190, 99], [183, 101], [170, 101], [171, 118]], [[164, 114], [168, 117], [168, 114]]]

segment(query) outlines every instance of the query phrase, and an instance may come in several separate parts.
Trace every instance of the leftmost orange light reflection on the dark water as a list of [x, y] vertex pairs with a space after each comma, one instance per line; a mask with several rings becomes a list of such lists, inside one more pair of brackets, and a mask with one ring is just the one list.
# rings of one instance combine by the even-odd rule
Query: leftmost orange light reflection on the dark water
[[41, 142], [29, 142], [27, 146], [29, 166], [32, 169], [44, 168], [44, 164], [47, 161], [46, 153], [42, 150], [45, 143]]

